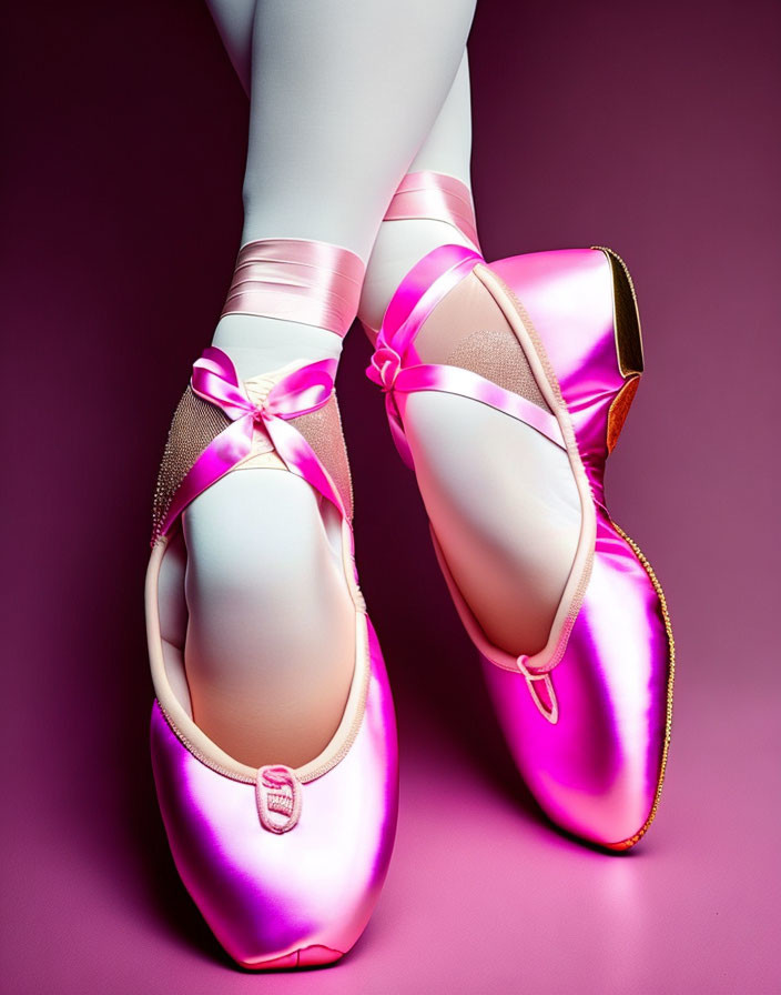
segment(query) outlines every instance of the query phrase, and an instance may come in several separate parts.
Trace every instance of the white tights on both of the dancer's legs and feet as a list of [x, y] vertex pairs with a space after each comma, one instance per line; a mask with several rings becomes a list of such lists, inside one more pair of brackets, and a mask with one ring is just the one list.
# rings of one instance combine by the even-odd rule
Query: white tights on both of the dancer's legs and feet
[[[377, 328], [418, 259], [466, 241], [444, 222], [381, 220], [408, 171], [469, 184], [474, 0], [209, 6], [251, 96], [242, 242], [320, 240], [368, 260], [359, 315]], [[214, 342], [243, 376], [341, 349], [325, 330], [247, 315], [223, 319]], [[566, 455], [465, 399], [425, 393], [407, 416], [459, 587], [494, 642], [539, 650], [579, 531]], [[341, 718], [353, 666], [352, 603], [314, 494], [278, 472], [232, 474], [193, 503], [184, 526], [186, 567], [184, 550], [170, 559], [186, 574], [195, 720], [240, 760], [311, 760]]]

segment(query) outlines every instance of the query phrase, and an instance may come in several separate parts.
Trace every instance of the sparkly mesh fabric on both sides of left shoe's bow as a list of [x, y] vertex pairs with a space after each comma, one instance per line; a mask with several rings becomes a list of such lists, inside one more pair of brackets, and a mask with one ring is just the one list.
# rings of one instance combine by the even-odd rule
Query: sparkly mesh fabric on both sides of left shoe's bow
[[[195, 460], [230, 423], [227, 415], [219, 408], [203, 401], [192, 388], [186, 389], [174, 412], [158, 474], [152, 509], [153, 543], [160, 536], [173, 495]], [[347, 514], [352, 517], [353, 486], [336, 398], [332, 396], [318, 411], [291, 419], [290, 424], [301, 432], [315, 451], [336, 484]]]

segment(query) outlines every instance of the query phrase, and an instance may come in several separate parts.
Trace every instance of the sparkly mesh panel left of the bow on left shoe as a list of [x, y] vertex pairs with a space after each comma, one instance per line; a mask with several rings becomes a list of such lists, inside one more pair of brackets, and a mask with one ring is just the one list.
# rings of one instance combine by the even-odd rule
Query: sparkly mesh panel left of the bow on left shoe
[[219, 408], [203, 401], [187, 388], [169, 429], [163, 461], [152, 506], [152, 542], [160, 535], [171, 500], [209, 443], [230, 425]]

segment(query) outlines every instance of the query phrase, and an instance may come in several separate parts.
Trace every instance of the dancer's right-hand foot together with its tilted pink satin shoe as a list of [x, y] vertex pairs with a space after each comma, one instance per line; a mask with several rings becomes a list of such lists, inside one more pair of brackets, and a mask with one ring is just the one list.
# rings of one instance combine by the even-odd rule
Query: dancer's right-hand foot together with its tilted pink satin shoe
[[[460, 329], [471, 331], [453, 344]], [[613, 253], [489, 265], [455, 245], [405, 278], [368, 371], [519, 770], [552, 820], [612, 848], [635, 845], [656, 814], [672, 698], [661, 587], [605, 505], [606, 460], [641, 371], [633, 290]], [[444, 420], [434, 431], [446, 404], [457, 431]], [[510, 461], [529, 472], [514, 479]], [[467, 512], [511, 486], [503, 524], [523, 536], [526, 575], [503, 595], [511, 544]]]

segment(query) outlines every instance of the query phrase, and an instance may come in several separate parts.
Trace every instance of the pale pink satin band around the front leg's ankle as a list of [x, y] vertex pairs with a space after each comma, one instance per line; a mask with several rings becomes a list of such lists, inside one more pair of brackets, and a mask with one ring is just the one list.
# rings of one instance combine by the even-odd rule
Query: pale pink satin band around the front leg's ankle
[[328, 242], [247, 242], [239, 253], [222, 314], [278, 318], [344, 336], [358, 310], [363, 279], [362, 260]]

